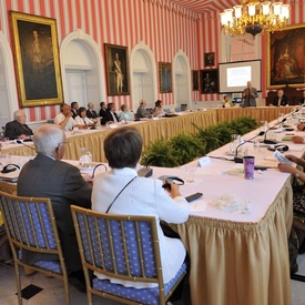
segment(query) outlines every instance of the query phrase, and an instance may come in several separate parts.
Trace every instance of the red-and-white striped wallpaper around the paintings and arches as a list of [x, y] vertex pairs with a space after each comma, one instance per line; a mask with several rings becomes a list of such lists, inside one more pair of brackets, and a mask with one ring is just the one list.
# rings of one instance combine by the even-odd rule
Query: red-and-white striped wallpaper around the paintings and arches
[[[222, 0], [230, 7], [230, 0]], [[285, 1], [292, 4], [291, 23], [305, 20], [304, 1]], [[191, 69], [204, 69], [204, 53], [215, 52], [215, 64], [220, 48], [218, 12], [199, 16], [179, 6], [170, 6], [166, 0], [0, 0], [0, 30], [11, 43], [9, 10], [55, 18], [59, 43], [70, 32], [82, 29], [98, 43], [104, 58], [104, 43], [132, 48], [143, 41], [151, 48], [159, 61], [172, 62], [182, 50], [189, 58]], [[266, 43], [262, 42], [263, 67], [266, 64]], [[156, 65], [157, 68], [157, 65]], [[263, 77], [263, 98], [266, 80]], [[173, 104], [171, 93], [159, 94], [164, 104]], [[218, 94], [192, 92], [194, 101], [218, 100]], [[70, 102], [70, 101], [68, 101]], [[108, 96], [106, 102], [132, 104], [132, 96]], [[29, 121], [53, 118], [59, 106], [26, 109]]]

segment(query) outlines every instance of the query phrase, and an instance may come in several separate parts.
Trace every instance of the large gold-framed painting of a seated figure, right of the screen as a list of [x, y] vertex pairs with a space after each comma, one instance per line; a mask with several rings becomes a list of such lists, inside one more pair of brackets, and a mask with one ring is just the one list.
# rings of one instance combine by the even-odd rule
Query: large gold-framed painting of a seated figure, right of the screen
[[305, 87], [305, 23], [266, 34], [267, 88]]

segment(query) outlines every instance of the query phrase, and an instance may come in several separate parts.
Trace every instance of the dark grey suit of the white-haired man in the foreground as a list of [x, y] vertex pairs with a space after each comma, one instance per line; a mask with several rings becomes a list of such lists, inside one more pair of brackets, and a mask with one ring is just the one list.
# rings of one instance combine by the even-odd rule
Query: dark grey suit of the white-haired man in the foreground
[[[91, 207], [91, 185], [78, 167], [47, 155], [38, 154], [21, 170], [18, 177], [19, 196], [51, 199], [65, 265], [70, 272], [82, 268], [70, 205]], [[33, 263], [42, 254], [28, 252], [22, 260]]]

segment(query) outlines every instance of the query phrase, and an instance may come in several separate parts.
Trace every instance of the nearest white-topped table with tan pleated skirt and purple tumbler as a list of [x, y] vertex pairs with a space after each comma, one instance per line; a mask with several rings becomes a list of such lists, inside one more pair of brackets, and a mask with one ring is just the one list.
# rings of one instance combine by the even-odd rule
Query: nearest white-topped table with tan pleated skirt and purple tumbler
[[[256, 130], [243, 138], [247, 140], [257, 133]], [[284, 134], [276, 133], [278, 140]], [[175, 226], [191, 260], [192, 304], [291, 304], [291, 175], [276, 169], [273, 152], [245, 143], [256, 164], [271, 167], [255, 172], [254, 180], [245, 180], [243, 165], [235, 164], [226, 153], [228, 145], [211, 152], [211, 163], [196, 167], [194, 182], [181, 186], [184, 196], [203, 193], [203, 197], [190, 204], [187, 222]], [[303, 155], [304, 145], [288, 145], [289, 153]], [[197, 166], [199, 160], [192, 164]], [[154, 167], [153, 176], [161, 175], [185, 179], [185, 169]]]

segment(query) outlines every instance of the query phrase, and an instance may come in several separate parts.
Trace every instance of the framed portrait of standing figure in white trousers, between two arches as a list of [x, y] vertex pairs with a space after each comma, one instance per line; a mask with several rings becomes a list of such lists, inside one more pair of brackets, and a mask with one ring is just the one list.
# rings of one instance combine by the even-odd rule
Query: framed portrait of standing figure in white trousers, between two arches
[[129, 95], [128, 47], [105, 43], [108, 95]]

